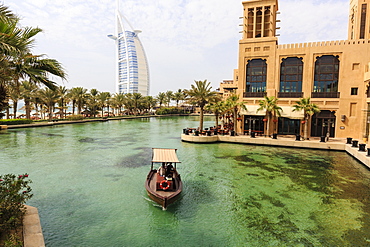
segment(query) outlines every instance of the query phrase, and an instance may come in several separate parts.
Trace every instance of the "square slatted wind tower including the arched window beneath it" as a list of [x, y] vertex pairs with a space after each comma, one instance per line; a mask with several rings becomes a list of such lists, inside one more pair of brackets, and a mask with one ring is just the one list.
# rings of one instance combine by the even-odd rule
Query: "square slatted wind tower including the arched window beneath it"
[[237, 72], [238, 88], [242, 89], [239, 97], [275, 96], [271, 90], [275, 74], [273, 69], [267, 69], [267, 64], [274, 68], [276, 62], [278, 0], [244, 1], [243, 10]]

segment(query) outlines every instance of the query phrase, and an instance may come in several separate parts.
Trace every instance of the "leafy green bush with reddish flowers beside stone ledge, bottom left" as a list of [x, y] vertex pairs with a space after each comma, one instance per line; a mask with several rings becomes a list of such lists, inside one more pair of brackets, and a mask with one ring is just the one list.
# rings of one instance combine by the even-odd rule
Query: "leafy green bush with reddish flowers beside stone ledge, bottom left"
[[28, 174], [0, 176], [0, 235], [7, 234], [22, 225], [24, 204], [33, 194]]

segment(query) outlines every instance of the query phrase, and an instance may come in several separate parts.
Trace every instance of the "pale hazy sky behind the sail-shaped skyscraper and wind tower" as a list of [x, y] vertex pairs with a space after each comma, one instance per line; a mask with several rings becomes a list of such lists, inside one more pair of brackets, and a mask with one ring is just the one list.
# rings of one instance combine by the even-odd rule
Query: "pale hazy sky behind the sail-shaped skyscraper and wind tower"
[[[116, 0], [0, 0], [39, 27], [34, 54], [61, 62], [67, 88], [115, 93]], [[212, 88], [233, 79], [241, 39], [242, 0], [120, 0], [149, 63], [150, 95], [188, 89], [194, 80]], [[280, 0], [279, 44], [347, 39], [349, 0]]]

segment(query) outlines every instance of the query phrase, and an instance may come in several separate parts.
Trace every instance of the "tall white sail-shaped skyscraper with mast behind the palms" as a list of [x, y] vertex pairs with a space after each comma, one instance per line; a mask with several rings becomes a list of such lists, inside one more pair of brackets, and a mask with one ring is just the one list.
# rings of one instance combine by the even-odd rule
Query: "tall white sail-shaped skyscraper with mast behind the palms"
[[149, 95], [149, 68], [139, 33], [120, 13], [117, 0], [116, 33], [108, 35], [116, 43], [117, 93]]

